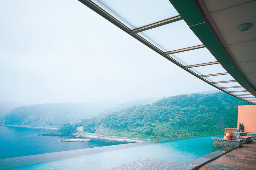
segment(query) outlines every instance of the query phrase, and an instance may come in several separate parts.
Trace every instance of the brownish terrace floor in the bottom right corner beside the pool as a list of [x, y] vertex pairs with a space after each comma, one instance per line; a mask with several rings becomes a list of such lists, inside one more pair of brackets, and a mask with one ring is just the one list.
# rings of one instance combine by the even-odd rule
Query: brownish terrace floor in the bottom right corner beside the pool
[[256, 170], [256, 140], [222, 155], [199, 170]]

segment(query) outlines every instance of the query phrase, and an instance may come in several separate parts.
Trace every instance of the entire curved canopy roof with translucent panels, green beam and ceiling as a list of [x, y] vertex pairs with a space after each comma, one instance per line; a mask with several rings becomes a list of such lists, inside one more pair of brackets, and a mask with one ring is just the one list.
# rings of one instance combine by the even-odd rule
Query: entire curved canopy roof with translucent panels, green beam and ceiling
[[[206, 83], [256, 104], [255, 0], [79, 0]], [[238, 26], [251, 23], [241, 32]]]

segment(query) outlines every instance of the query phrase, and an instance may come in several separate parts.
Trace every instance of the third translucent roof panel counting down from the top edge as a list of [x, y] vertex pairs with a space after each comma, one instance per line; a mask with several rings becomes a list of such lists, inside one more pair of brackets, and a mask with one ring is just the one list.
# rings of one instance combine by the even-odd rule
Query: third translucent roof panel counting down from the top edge
[[179, 52], [169, 55], [183, 66], [217, 61], [207, 48]]

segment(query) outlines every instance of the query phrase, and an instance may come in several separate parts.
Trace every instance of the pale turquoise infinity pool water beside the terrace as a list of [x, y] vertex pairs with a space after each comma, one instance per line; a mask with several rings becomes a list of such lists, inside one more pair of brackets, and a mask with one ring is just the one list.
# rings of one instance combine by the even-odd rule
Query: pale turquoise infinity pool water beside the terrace
[[187, 163], [216, 151], [213, 137], [223, 135], [184, 138], [149, 145], [116, 149], [46, 163], [21, 166], [12, 170], [103, 170], [143, 158]]

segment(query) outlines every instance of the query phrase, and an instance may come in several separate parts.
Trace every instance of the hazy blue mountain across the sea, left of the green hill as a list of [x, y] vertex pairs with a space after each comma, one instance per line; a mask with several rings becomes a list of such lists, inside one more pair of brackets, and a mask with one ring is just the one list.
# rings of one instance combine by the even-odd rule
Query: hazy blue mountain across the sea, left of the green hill
[[92, 118], [115, 103], [48, 103], [22, 106], [13, 109], [0, 118], [6, 125], [60, 127], [67, 123], [80, 123], [84, 118]]

